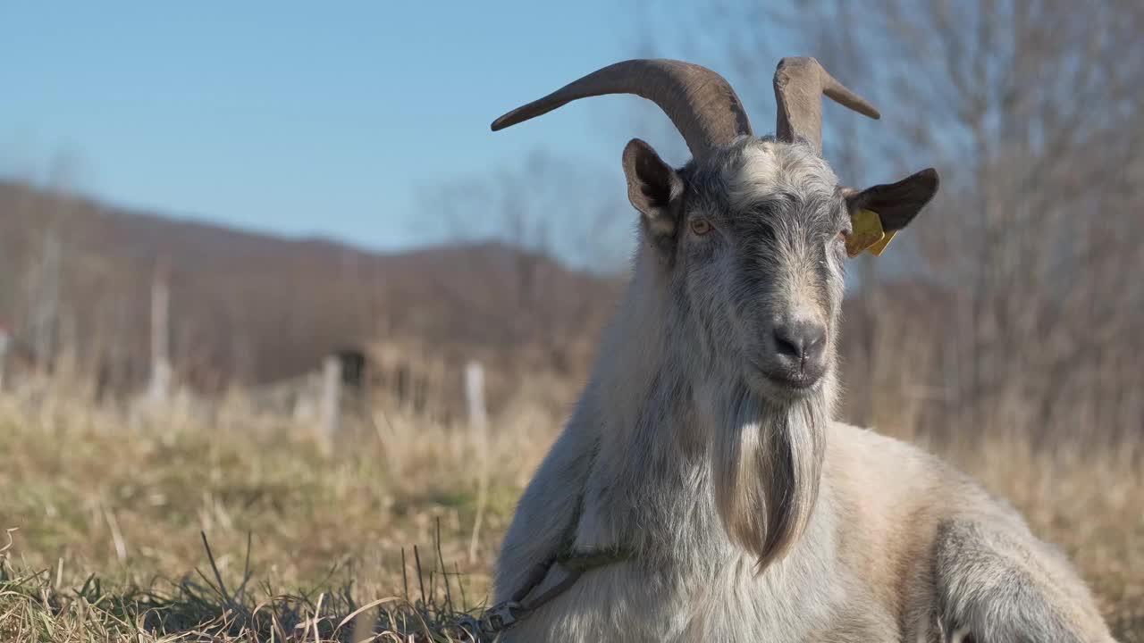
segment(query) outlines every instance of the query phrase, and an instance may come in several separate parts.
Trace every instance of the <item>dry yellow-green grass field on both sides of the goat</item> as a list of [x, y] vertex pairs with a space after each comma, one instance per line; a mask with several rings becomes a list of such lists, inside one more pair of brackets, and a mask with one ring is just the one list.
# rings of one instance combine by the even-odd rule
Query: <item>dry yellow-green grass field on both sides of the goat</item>
[[[132, 426], [0, 397], [0, 641], [447, 640], [440, 624], [486, 601], [554, 436], [542, 414], [487, 444], [390, 416], [325, 452], [299, 427], [221, 416]], [[1136, 445], [947, 455], [1066, 549], [1121, 641], [1144, 641]]]

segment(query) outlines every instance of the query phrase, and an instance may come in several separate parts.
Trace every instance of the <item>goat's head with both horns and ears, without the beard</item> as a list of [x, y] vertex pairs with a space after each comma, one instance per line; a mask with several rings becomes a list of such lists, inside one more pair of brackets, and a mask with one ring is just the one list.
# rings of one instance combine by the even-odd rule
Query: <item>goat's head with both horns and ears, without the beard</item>
[[717, 73], [665, 59], [604, 68], [492, 127], [620, 93], [656, 102], [693, 154], [673, 169], [633, 140], [623, 172], [664, 284], [694, 322], [702, 362], [776, 402], [813, 394], [833, 371], [851, 214], [869, 209], [884, 230], [904, 228], [934, 196], [937, 173], [861, 191], [840, 185], [820, 156], [821, 95], [871, 118], [879, 113], [813, 58], [779, 63], [774, 137], [753, 136], [742, 104]]

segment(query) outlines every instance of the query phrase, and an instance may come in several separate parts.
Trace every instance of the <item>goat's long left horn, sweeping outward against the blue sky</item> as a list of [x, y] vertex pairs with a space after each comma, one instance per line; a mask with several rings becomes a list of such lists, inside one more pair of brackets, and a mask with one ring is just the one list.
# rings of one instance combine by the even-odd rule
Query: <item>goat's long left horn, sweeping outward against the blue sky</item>
[[609, 65], [519, 106], [493, 121], [493, 132], [548, 113], [577, 98], [635, 94], [652, 101], [672, 119], [696, 158], [734, 137], [750, 135], [750, 122], [734, 89], [707, 68], [668, 59], [635, 59]]

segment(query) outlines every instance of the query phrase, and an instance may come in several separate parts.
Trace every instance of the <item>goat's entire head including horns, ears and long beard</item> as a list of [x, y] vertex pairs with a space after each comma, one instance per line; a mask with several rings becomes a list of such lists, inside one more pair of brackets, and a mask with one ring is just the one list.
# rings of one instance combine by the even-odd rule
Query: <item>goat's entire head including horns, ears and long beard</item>
[[644, 241], [633, 286], [662, 292], [664, 322], [683, 340], [667, 348], [696, 366], [697, 400], [715, 402], [715, 501], [728, 532], [762, 566], [803, 532], [818, 495], [853, 214], [871, 211], [863, 216], [899, 230], [936, 192], [937, 173], [866, 190], [840, 185], [820, 156], [821, 95], [879, 114], [813, 58], [779, 63], [773, 137], [752, 134], [723, 78], [678, 61], [604, 68], [493, 129], [618, 93], [656, 102], [693, 154], [674, 169], [643, 141], [623, 150]]

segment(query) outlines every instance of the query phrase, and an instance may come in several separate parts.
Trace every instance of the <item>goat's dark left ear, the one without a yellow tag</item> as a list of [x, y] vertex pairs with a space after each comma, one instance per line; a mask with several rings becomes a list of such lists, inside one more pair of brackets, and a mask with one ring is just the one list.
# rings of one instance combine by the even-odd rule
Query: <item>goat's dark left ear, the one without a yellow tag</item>
[[673, 237], [676, 206], [683, 195], [680, 175], [639, 138], [623, 148], [623, 174], [628, 178], [628, 200], [643, 214], [648, 231], [656, 239]]

